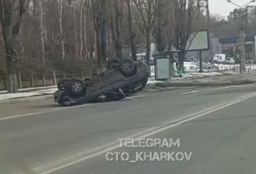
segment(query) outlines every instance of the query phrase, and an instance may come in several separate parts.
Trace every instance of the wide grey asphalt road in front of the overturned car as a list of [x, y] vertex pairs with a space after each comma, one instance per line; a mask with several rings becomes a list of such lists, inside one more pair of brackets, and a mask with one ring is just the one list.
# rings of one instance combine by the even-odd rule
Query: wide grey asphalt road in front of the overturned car
[[[247, 85], [143, 93], [139, 100], [71, 108], [47, 100], [0, 106], [2, 162], [53, 174], [255, 173], [255, 92], [255, 85]], [[180, 147], [119, 147], [118, 139], [140, 136], [179, 139]], [[133, 159], [140, 152], [192, 156], [129, 163], [109, 162], [106, 152]]]

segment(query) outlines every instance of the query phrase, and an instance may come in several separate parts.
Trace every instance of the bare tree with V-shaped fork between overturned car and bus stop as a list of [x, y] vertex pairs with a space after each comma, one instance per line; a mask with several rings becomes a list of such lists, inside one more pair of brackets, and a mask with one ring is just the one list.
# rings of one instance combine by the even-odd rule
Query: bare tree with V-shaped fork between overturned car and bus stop
[[139, 16], [142, 21], [142, 24], [137, 21], [137, 24], [140, 27], [140, 30], [145, 36], [146, 39], [146, 61], [147, 66], [150, 66], [150, 45], [151, 45], [151, 36], [152, 29], [155, 21], [155, 4], [154, 0], [133, 0], [135, 6], [139, 11]]

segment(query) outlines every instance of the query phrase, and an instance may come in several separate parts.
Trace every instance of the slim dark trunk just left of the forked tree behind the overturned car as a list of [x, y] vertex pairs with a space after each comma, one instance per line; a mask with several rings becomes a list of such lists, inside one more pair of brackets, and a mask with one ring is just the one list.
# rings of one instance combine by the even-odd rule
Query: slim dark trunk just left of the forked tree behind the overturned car
[[129, 34], [130, 34], [130, 47], [132, 50], [132, 60], [137, 60], [137, 47], [134, 41], [135, 32], [132, 26], [132, 9], [131, 9], [132, 1], [126, 0], [126, 3], [127, 3], [127, 9], [128, 9], [127, 19], [128, 19]]

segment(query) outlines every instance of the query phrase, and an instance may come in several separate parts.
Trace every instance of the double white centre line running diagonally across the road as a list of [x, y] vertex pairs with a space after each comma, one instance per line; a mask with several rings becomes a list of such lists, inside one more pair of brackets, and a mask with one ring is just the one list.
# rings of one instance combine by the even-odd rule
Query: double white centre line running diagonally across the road
[[[240, 97], [240, 98], [237, 98], [237, 99], [219, 104], [219, 105], [214, 106], [212, 108], [205, 109], [204, 111], [192, 114], [190, 116], [183, 117], [182, 119], [177, 119], [176, 121], [171, 121], [171, 122], [165, 124], [165, 126], [157, 126], [157, 127], [148, 129], [147, 131], [142, 131], [142, 132], [139, 132], [137, 134], [130, 135], [129, 138], [134, 138], [134, 139], [138, 140], [138, 139], [142, 139], [142, 138], [145, 138], [145, 137], [149, 137], [150, 135], [157, 134], [159, 132], [165, 131], [165, 130], [170, 129], [170, 128], [175, 127], [175, 126], [179, 126], [180, 124], [183, 124], [184, 122], [188, 122], [188, 121], [191, 121], [193, 119], [197, 119], [199, 117], [210, 114], [212, 112], [219, 111], [220, 109], [227, 108], [228, 106], [239, 103], [241, 101], [245, 101], [246, 99], [250, 99], [250, 98], [253, 98], [255, 96], [256, 96], [256, 93], [250, 93], [246, 96], [243, 96], [243, 97]], [[49, 173], [52, 173], [52, 172], [56, 172], [57, 170], [61, 170], [62, 168], [66, 168], [66, 167], [69, 167], [69, 166], [74, 165], [76, 163], [82, 162], [84, 160], [88, 160], [89, 158], [93, 158], [93, 157], [96, 157], [98, 155], [102, 155], [103, 153], [109, 152], [109, 151], [117, 149], [117, 148], [119, 148], [119, 143], [118, 142], [111, 142], [111, 143], [105, 144], [104, 146], [96, 147], [96, 148], [92, 149], [91, 153], [89, 153], [89, 155], [79, 153], [77, 155], [74, 154], [74, 156], [72, 156], [71, 158], [64, 158], [64, 159], [58, 160], [56, 162], [56, 164], [58, 163], [59, 167], [52, 168], [51, 170], [49, 170], [49, 168], [51, 168], [50, 166], [54, 165], [54, 163], [49, 163], [49, 165], [44, 165], [44, 166], [37, 167], [37, 168], [34, 168], [34, 169], [36, 171], [40, 171], [39, 170], [39, 168], [40, 168], [41, 171], [46, 170], [45, 172], [42, 172], [41, 174], [49, 174]], [[84, 155], [86, 155], [86, 156], [84, 157]], [[74, 158], [76, 158], [76, 157], [82, 157], [82, 158], [74, 160]], [[68, 162], [68, 161], [72, 161], [72, 162]], [[66, 162], [66, 164], [60, 165], [60, 163], [64, 163], [64, 162]]]

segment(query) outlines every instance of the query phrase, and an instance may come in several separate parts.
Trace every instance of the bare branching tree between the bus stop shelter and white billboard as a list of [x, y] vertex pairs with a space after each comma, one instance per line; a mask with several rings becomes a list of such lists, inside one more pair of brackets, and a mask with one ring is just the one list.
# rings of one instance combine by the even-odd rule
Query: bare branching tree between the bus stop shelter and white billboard
[[187, 53], [187, 47], [192, 42], [188, 43], [191, 38], [192, 22], [197, 14], [197, 0], [177, 0], [174, 3], [174, 29], [175, 35], [172, 43], [177, 50], [180, 50], [179, 69], [184, 70], [184, 57]]

